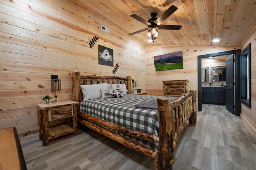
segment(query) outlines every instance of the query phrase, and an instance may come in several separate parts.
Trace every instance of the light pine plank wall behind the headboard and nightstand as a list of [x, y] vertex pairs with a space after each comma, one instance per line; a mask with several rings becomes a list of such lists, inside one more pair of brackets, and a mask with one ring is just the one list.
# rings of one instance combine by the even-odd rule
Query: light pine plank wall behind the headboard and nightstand
[[[51, 91], [51, 75], [61, 79], [58, 101], [70, 100], [72, 71], [114, 75], [98, 64], [98, 45], [114, 51], [116, 76], [132, 76], [145, 89], [145, 45], [114, 30], [104, 19], [69, 0], [0, 2], [0, 129], [19, 134], [38, 130], [36, 105]], [[110, 33], [100, 29], [108, 27]], [[99, 37], [94, 47], [88, 42]]]

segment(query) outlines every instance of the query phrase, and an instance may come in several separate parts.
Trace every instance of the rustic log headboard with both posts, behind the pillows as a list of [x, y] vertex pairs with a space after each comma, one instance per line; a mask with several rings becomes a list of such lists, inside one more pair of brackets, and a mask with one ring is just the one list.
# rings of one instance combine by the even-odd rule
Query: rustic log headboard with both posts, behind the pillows
[[[95, 83], [96, 81], [96, 83]], [[72, 101], [77, 101], [80, 103], [81, 98], [81, 88], [80, 85], [87, 84], [99, 84], [99, 83], [109, 83], [109, 84], [126, 84], [126, 88], [128, 90], [127, 94], [132, 93], [132, 77], [127, 76], [117, 77], [117, 76], [97, 76], [97, 75], [80, 75], [79, 71], [73, 71], [72, 73]], [[82, 82], [82, 83], [81, 83]]]

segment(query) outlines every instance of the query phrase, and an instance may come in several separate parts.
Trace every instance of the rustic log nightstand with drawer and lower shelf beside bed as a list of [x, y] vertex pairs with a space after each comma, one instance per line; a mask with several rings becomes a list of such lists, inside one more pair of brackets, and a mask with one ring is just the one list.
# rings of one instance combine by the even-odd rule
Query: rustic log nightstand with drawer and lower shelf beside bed
[[[58, 103], [43, 105], [38, 104], [40, 109], [39, 138], [43, 140], [43, 146], [47, 146], [49, 140], [72, 133], [77, 134], [77, 107], [76, 101], [60, 101]], [[67, 124], [57, 125], [49, 128], [49, 121], [68, 118]]]

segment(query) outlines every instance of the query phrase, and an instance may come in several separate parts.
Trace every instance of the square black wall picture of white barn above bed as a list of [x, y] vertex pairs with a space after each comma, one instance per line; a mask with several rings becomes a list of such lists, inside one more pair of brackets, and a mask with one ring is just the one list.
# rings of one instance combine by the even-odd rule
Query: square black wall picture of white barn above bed
[[113, 49], [98, 45], [99, 64], [113, 66]]

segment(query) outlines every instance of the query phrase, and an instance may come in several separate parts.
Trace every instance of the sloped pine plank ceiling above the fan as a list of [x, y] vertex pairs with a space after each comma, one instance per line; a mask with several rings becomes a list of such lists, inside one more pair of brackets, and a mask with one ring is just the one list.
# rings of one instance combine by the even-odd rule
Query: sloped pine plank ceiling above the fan
[[[217, 45], [240, 47], [256, 28], [256, 0], [72, 0], [94, 17], [104, 18], [107, 28], [130, 34], [147, 28], [130, 17], [136, 14], [149, 20], [158, 17], [171, 5], [178, 8], [164, 23], [181, 25], [180, 30], [159, 30], [154, 43], [148, 42], [147, 31], [132, 35], [144, 44]], [[99, 24], [99, 23], [98, 23]], [[212, 40], [219, 38], [220, 42]]]

